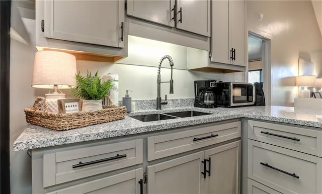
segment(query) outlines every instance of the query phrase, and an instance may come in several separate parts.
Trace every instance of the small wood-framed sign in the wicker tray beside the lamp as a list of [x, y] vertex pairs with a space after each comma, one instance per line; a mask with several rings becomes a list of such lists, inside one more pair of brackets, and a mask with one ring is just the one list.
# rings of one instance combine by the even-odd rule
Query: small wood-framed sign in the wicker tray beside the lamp
[[74, 113], [82, 111], [81, 99], [57, 100], [58, 113]]

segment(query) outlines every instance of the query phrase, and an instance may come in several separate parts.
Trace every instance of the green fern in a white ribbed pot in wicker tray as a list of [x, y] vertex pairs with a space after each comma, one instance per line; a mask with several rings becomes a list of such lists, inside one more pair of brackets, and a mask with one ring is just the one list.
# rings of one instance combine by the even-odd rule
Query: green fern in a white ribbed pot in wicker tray
[[90, 71], [87, 75], [76, 74], [76, 85], [71, 88], [71, 94], [75, 98], [83, 99], [82, 111], [100, 110], [102, 107], [102, 99], [109, 92], [113, 85], [112, 80], [102, 81], [97, 75], [93, 76]]

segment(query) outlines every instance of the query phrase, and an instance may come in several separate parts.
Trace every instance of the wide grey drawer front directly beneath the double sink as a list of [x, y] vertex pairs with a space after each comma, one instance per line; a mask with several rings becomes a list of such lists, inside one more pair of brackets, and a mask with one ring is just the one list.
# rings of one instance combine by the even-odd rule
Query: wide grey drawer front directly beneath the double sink
[[240, 121], [186, 129], [183, 132], [148, 137], [148, 161], [240, 137]]

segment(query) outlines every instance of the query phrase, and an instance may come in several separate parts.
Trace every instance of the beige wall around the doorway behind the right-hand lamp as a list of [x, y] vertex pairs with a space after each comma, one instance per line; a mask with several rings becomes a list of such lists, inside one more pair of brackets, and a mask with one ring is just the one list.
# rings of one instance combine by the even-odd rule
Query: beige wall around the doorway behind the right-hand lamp
[[[263, 20], [257, 20], [263, 13]], [[322, 38], [311, 1], [247, 1], [248, 30], [271, 39], [271, 105], [293, 106], [298, 58], [322, 76]]]

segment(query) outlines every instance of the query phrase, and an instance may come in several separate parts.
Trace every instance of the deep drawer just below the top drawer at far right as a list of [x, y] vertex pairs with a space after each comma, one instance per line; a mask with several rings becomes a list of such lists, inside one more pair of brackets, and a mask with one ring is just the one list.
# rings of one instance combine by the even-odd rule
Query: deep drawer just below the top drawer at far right
[[321, 193], [321, 160], [249, 140], [248, 177], [282, 193]]

